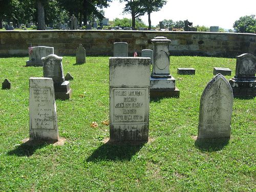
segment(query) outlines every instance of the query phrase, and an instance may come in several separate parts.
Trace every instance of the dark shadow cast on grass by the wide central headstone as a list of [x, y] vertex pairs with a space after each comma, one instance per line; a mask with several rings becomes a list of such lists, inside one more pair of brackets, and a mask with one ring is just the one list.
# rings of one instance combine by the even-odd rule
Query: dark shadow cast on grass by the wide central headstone
[[131, 158], [143, 147], [146, 142], [106, 142], [98, 147], [86, 162], [101, 160], [122, 161]]

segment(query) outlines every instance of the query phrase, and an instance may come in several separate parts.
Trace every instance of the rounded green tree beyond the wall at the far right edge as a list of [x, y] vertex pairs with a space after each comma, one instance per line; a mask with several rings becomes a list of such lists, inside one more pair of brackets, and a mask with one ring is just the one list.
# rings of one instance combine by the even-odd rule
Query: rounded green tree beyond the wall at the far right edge
[[236, 33], [256, 33], [255, 15], [243, 16], [233, 24]]

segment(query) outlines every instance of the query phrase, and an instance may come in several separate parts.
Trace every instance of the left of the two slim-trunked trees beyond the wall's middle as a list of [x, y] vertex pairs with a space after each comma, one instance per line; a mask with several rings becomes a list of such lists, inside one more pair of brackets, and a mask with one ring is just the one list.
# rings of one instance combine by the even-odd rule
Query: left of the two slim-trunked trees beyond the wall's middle
[[120, 2], [127, 2], [123, 9], [124, 13], [132, 14], [132, 27], [136, 27], [136, 18], [145, 14], [143, 1], [141, 0], [120, 0]]

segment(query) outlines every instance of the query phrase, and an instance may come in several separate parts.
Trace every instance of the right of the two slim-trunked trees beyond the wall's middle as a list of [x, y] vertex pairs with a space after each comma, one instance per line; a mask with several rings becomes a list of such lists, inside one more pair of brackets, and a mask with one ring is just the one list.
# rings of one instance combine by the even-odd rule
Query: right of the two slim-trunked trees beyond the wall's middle
[[148, 29], [151, 29], [151, 13], [159, 11], [165, 4], [165, 0], [141, 0], [143, 6], [141, 12], [146, 12], [148, 15]]

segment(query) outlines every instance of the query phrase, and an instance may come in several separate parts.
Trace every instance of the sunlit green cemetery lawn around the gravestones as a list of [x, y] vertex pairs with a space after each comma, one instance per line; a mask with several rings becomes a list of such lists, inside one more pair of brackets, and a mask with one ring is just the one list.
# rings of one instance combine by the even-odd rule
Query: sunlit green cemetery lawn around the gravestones
[[[214, 67], [236, 59], [171, 56], [170, 74], [180, 98], [150, 102], [150, 141], [104, 143], [109, 126], [109, 57], [63, 57], [74, 76], [70, 100], [56, 100], [63, 146], [24, 145], [29, 137], [29, 78], [42, 67], [24, 67], [28, 57], [0, 58], [0, 191], [255, 191], [256, 98], [234, 99], [231, 139], [219, 145], [196, 141], [201, 94]], [[195, 68], [196, 75], [177, 75]], [[90, 124], [96, 121], [97, 127]]]

